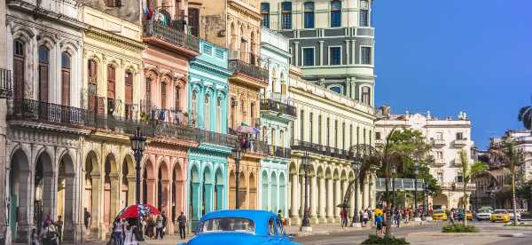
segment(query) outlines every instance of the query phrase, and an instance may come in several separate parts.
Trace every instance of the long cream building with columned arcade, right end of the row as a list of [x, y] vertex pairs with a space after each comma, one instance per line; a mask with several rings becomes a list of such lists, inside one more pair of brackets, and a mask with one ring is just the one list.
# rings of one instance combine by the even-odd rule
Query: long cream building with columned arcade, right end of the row
[[[350, 149], [357, 144], [373, 145], [373, 108], [301, 79], [301, 70], [291, 67], [289, 97], [297, 112], [292, 123], [292, 157], [288, 167], [288, 206], [292, 224], [301, 224], [304, 213], [304, 171], [302, 156], [309, 154], [309, 215], [314, 224], [339, 223], [340, 208], [350, 182], [358, 180], [351, 169]], [[354, 207], [375, 207], [375, 178], [364, 178], [358, 192], [349, 200], [349, 216]]]

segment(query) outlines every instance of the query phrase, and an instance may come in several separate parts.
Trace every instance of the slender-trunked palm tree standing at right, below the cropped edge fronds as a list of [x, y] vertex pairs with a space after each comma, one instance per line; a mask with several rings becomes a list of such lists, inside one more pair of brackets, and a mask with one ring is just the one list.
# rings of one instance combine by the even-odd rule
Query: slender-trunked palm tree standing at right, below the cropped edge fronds
[[515, 198], [515, 170], [522, 164], [522, 152], [516, 150], [512, 139], [505, 140], [489, 149], [492, 162], [496, 162], [510, 170], [512, 174], [512, 207], [513, 225], [517, 225], [517, 204]]

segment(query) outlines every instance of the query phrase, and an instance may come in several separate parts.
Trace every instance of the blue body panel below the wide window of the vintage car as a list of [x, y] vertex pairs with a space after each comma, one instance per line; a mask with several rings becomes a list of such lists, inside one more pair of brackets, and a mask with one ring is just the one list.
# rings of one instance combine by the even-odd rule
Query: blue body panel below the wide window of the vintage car
[[268, 241], [265, 237], [257, 236], [252, 233], [200, 233], [192, 237], [187, 245], [197, 244], [266, 244]]

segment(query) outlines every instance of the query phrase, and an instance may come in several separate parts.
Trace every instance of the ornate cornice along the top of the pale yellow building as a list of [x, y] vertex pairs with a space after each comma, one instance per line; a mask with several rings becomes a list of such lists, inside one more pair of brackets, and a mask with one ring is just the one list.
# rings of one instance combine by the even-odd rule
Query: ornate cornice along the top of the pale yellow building
[[122, 49], [129, 51], [142, 52], [145, 50], [146, 45], [144, 43], [131, 40], [124, 36], [118, 36], [116, 34], [107, 33], [105, 30], [99, 28], [88, 28], [85, 30], [85, 36], [98, 40], [102, 43], [109, 43]]

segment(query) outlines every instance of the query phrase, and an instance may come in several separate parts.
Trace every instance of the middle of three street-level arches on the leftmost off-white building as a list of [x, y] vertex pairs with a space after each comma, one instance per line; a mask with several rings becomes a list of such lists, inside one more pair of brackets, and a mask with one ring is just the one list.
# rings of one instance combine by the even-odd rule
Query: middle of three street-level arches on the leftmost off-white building
[[45, 151], [37, 157], [35, 164], [35, 188], [34, 188], [34, 225], [37, 231], [41, 230], [41, 225], [45, 217], [53, 217], [52, 204], [54, 197], [54, 174], [51, 164], [51, 157]]

